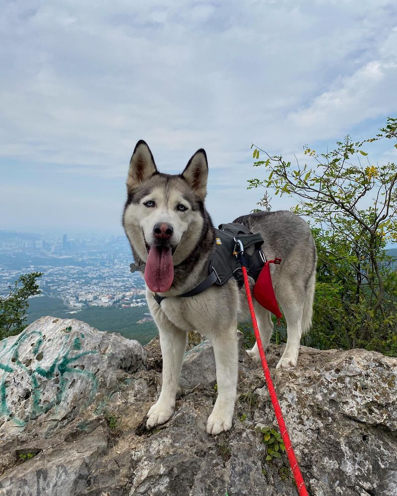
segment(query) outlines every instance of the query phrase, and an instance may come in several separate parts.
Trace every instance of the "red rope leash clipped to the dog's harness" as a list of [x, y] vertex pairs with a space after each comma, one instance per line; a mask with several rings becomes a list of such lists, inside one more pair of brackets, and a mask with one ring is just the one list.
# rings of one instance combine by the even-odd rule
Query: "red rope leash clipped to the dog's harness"
[[[240, 246], [242, 248], [242, 245], [240, 245]], [[241, 261], [241, 268], [243, 269], [244, 284], [245, 284], [245, 289], [247, 292], [248, 306], [250, 307], [250, 313], [251, 313], [252, 323], [254, 326], [255, 338], [256, 338], [257, 343], [258, 343], [258, 349], [259, 349], [259, 354], [261, 356], [262, 367], [263, 367], [264, 372], [265, 372], [267, 389], [269, 390], [270, 399], [271, 399], [271, 403], [273, 404], [273, 409], [274, 409], [274, 413], [276, 415], [278, 427], [280, 429], [280, 434], [281, 434], [282, 440], [284, 441], [285, 451], [286, 451], [287, 456], [288, 456], [289, 465], [291, 467], [292, 474], [293, 474], [294, 479], [295, 479], [296, 487], [298, 488], [299, 496], [309, 496], [309, 494], [306, 490], [305, 482], [303, 481], [301, 471], [299, 469], [298, 462], [296, 460], [294, 448], [292, 447], [292, 444], [291, 444], [291, 439], [289, 438], [287, 428], [285, 427], [285, 422], [284, 422], [284, 419], [282, 416], [280, 405], [278, 404], [277, 394], [276, 394], [276, 391], [274, 389], [273, 381], [271, 380], [269, 367], [267, 365], [267, 361], [266, 361], [266, 357], [265, 357], [265, 351], [263, 349], [261, 336], [259, 334], [257, 317], [255, 316], [254, 305], [252, 303], [251, 290], [250, 290], [250, 285], [248, 282], [247, 268], [245, 266], [243, 251], [241, 251], [239, 253], [239, 258]]]

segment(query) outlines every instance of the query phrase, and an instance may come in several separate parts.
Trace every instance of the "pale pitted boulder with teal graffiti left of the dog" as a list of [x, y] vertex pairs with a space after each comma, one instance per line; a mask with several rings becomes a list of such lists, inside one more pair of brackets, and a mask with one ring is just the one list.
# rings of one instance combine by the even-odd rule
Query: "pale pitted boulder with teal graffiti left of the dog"
[[113, 390], [120, 371], [145, 363], [137, 341], [76, 319], [36, 320], [0, 342], [0, 439], [43, 424], [50, 432]]

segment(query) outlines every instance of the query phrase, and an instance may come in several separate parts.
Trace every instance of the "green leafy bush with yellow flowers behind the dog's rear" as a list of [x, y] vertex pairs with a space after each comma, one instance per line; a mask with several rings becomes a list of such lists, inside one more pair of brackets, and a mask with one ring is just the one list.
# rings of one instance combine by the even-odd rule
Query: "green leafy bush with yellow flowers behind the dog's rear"
[[292, 211], [308, 220], [316, 241], [313, 329], [302, 340], [308, 346], [397, 355], [397, 272], [386, 249], [397, 242], [397, 166], [375, 166], [363, 149], [396, 141], [397, 119], [379, 131], [360, 142], [346, 136], [322, 154], [305, 146], [303, 165], [254, 149], [254, 166], [266, 172], [265, 179], [249, 180], [249, 188], [296, 199]]

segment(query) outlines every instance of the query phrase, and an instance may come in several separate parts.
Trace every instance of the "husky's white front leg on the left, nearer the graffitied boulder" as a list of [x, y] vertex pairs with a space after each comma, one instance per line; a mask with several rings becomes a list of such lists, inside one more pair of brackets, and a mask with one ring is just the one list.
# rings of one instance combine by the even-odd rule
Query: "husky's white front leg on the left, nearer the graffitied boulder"
[[187, 342], [187, 333], [169, 321], [159, 327], [159, 334], [163, 355], [163, 385], [157, 402], [147, 412], [148, 429], [157, 424], [164, 424], [174, 413], [175, 396]]

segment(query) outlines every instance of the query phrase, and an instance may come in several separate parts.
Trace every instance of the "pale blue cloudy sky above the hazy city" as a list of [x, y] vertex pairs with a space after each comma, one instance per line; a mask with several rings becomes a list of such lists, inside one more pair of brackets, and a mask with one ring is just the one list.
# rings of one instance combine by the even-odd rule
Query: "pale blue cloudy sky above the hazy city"
[[169, 173], [205, 148], [228, 222], [260, 198], [252, 142], [322, 151], [397, 113], [395, 1], [3, 0], [0, 37], [0, 229], [122, 233], [138, 139]]

